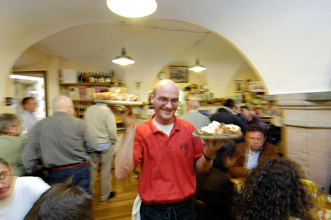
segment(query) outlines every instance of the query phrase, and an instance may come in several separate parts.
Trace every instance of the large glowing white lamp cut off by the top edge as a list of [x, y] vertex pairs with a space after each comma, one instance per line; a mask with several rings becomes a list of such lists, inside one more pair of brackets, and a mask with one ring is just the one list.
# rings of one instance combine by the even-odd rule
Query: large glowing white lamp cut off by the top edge
[[158, 7], [155, 0], [107, 0], [107, 6], [115, 14], [128, 18], [145, 17]]

